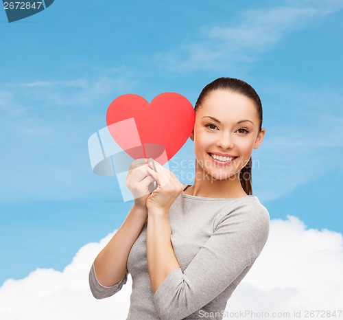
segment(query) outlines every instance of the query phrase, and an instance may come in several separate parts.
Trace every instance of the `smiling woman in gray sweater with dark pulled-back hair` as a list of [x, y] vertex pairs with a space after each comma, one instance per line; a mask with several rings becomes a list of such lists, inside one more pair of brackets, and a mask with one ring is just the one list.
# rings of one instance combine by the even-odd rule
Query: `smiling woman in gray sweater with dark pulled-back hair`
[[157, 162], [155, 172], [147, 159], [134, 161], [127, 178], [134, 205], [91, 268], [97, 299], [132, 275], [127, 319], [222, 319], [268, 238], [269, 214], [251, 186], [252, 149], [265, 134], [259, 95], [244, 81], [219, 78], [195, 111], [193, 185]]

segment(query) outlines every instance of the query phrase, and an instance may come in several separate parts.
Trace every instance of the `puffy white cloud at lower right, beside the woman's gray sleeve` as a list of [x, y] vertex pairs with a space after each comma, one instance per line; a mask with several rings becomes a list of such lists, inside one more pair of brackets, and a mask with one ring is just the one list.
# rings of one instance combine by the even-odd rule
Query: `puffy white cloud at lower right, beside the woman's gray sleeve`
[[294, 310], [342, 309], [342, 267], [341, 233], [306, 229], [294, 216], [272, 220], [270, 238], [227, 310], [293, 315]]

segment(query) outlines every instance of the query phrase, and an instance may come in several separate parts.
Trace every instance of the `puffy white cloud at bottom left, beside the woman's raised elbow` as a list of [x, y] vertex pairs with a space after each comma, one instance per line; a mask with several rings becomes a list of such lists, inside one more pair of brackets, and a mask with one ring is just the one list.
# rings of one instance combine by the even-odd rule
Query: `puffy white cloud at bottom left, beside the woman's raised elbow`
[[25, 279], [9, 279], [0, 288], [0, 319], [126, 319], [131, 277], [115, 299], [96, 300], [88, 287], [88, 271], [110, 239], [82, 247], [64, 271], [37, 269]]

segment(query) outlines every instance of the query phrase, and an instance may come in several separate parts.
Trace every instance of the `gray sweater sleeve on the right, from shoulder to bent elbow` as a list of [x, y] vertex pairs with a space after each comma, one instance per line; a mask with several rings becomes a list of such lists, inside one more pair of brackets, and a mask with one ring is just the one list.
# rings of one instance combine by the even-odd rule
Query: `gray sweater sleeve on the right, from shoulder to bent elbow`
[[241, 205], [224, 216], [187, 268], [169, 273], [156, 290], [159, 317], [183, 319], [209, 304], [235, 279], [240, 281], [261, 253], [269, 224], [268, 211], [260, 205]]

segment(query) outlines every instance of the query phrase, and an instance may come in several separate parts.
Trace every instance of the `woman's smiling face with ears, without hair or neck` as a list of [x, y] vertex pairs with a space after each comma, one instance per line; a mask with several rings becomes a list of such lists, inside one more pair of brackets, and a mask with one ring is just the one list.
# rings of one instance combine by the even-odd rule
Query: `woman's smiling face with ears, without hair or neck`
[[202, 173], [213, 179], [237, 178], [252, 149], [258, 148], [263, 140], [264, 129], [259, 132], [259, 125], [257, 107], [245, 95], [226, 90], [206, 95], [196, 110], [191, 133]]

